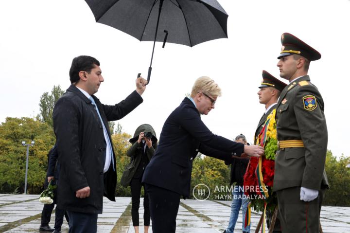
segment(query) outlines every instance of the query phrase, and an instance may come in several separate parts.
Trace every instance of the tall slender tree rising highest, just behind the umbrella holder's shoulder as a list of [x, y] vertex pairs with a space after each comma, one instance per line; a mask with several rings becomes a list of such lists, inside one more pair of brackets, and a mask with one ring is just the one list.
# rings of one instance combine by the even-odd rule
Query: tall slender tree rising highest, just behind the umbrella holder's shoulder
[[64, 91], [61, 89], [60, 85], [53, 86], [51, 94], [49, 92], [44, 92], [40, 97], [40, 115], [39, 118], [41, 122], [45, 122], [51, 127], [53, 127], [53, 107], [57, 100], [63, 95]]

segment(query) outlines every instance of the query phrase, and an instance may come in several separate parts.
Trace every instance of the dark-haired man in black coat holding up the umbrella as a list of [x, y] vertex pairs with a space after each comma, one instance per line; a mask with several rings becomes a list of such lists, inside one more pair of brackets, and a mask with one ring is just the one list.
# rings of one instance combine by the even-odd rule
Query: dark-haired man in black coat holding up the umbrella
[[116, 105], [94, 95], [104, 81], [100, 62], [78, 56], [70, 67], [71, 85], [53, 109], [58, 160], [61, 164], [57, 206], [67, 210], [70, 233], [96, 233], [103, 196], [115, 201], [116, 159], [108, 121], [123, 118], [140, 103], [147, 81], [136, 79], [136, 90]]

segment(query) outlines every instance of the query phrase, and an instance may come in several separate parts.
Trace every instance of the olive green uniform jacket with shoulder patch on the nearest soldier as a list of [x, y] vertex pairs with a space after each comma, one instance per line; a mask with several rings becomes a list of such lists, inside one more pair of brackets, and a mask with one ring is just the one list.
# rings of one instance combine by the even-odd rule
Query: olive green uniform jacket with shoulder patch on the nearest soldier
[[308, 75], [290, 83], [281, 92], [276, 110], [277, 139], [302, 140], [304, 147], [281, 148], [275, 160], [274, 191], [302, 186], [328, 187], [324, 172], [327, 125], [324, 103]]

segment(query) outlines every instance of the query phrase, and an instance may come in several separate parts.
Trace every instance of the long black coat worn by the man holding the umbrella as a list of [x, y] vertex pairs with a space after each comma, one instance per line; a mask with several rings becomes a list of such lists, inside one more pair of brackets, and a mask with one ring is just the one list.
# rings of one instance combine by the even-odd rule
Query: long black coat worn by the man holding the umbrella
[[[111, 142], [107, 122], [123, 118], [142, 102], [136, 91], [114, 106], [103, 105], [94, 95], [92, 97]], [[104, 174], [106, 142], [95, 105], [71, 85], [53, 109], [53, 127], [61, 164], [58, 208], [101, 214], [104, 195], [115, 201], [117, 169], [113, 150], [114, 171], [111, 161], [109, 170]], [[90, 187], [89, 197], [75, 197], [75, 191], [87, 186]]]

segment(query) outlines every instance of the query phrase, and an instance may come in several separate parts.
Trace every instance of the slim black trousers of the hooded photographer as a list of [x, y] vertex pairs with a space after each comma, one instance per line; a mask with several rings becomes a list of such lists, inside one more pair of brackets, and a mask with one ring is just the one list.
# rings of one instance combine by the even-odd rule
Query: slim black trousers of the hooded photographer
[[141, 194], [141, 187], [143, 186], [144, 190], [144, 198], [143, 198], [143, 225], [149, 226], [150, 225], [150, 211], [149, 211], [149, 203], [148, 203], [148, 195], [145, 190], [144, 184], [141, 183], [141, 178], [132, 179], [130, 182], [131, 187], [131, 200], [132, 200], [132, 207], [131, 207], [131, 217], [133, 220], [133, 226], [139, 226], [139, 208], [140, 208], [140, 194]]

